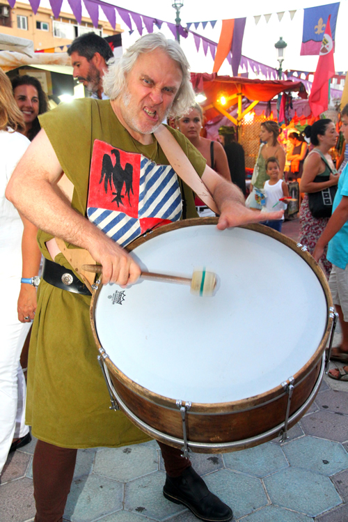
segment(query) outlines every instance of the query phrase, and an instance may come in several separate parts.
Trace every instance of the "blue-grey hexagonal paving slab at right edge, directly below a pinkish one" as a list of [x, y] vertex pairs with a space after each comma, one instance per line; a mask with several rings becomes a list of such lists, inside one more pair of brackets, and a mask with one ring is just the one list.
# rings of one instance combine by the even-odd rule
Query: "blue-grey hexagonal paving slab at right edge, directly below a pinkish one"
[[331, 476], [348, 468], [348, 453], [340, 443], [303, 437], [283, 445], [290, 466]]

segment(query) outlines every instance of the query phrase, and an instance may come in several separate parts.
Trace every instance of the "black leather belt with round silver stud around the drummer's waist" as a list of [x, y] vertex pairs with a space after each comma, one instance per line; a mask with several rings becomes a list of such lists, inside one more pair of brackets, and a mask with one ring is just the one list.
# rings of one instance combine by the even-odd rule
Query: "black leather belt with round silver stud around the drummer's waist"
[[52, 286], [56, 286], [58, 289], [81, 293], [82, 295], [92, 295], [86, 284], [81, 282], [72, 270], [48, 259], [44, 259], [41, 277], [48, 284], [52, 284]]

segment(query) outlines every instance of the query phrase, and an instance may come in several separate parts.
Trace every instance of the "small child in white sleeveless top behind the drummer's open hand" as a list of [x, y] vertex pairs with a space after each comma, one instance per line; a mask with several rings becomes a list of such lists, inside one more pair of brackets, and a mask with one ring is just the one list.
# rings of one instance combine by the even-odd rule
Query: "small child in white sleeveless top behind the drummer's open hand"
[[[285, 181], [279, 179], [279, 162], [274, 156], [266, 160], [266, 172], [270, 179], [264, 183], [263, 192], [266, 203], [262, 206], [262, 211], [274, 212], [275, 210], [285, 210], [287, 205], [283, 203], [283, 201], [280, 201], [280, 199], [290, 197], [289, 190]], [[281, 232], [283, 220], [284, 216], [280, 220], [264, 221], [263, 224]]]

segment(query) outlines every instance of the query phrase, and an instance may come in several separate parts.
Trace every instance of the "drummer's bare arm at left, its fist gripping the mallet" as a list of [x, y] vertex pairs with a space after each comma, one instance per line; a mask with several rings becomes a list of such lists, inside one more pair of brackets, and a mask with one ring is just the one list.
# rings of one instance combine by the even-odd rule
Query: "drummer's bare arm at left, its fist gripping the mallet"
[[62, 172], [54, 148], [41, 130], [13, 172], [6, 197], [39, 229], [88, 250], [103, 267], [104, 284], [135, 282], [141, 270], [132, 257], [71, 208], [56, 189]]

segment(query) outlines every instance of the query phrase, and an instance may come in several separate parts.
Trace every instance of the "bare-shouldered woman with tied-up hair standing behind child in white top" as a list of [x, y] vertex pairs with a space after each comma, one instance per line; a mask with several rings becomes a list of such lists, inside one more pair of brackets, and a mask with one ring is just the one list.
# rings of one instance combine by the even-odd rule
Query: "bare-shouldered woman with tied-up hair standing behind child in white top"
[[285, 152], [278, 141], [281, 129], [275, 121], [264, 121], [261, 123], [260, 140], [261, 145], [256, 160], [253, 178], [251, 178], [250, 192], [251, 197], [248, 198], [247, 204], [252, 210], [261, 210], [262, 206], [258, 202], [255, 189], [261, 190], [265, 181], [269, 180], [266, 172], [266, 160], [274, 157], [279, 162], [279, 179], [283, 179], [285, 167]]

